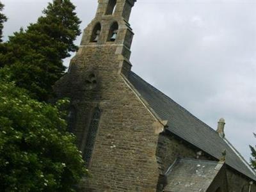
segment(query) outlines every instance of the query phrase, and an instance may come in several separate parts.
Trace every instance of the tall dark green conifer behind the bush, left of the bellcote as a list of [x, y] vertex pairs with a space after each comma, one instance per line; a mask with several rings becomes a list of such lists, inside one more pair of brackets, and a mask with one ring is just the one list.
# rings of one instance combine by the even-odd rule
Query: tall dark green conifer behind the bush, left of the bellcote
[[62, 60], [76, 51], [80, 20], [69, 0], [54, 0], [35, 24], [10, 36], [0, 54], [0, 67], [10, 66], [11, 79], [29, 90], [35, 99], [46, 101], [52, 85], [63, 76]]

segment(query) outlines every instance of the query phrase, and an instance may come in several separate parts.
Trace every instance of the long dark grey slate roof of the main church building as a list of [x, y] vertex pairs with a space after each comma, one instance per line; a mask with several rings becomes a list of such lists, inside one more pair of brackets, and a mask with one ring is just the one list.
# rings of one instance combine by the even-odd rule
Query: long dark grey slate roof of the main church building
[[170, 97], [154, 88], [154, 86], [148, 84], [141, 77], [134, 74], [134, 72], [130, 72], [128, 80], [161, 120], [168, 120], [168, 131], [207, 152], [207, 154], [216, 159], [220, 159], [222, 156], [221, 152], [226, 150], [226, 164], [256, 180], [254, 173], [248, 168], [248, 164], [242, 160], [243, 157], [239, 156], [234, 148], [231, 148], [226, 140], [220, 138], [218, 133], [211, 127], [182, 108]]

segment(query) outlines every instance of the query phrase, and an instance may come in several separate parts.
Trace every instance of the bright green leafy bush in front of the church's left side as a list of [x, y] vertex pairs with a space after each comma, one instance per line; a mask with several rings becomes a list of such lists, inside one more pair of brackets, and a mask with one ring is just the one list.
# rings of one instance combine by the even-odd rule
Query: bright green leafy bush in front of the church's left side
[[60, 111], [67, 102], [31, 99], [9, 72], [0, 70], [1, 191], [72, 191], [86, 170]]

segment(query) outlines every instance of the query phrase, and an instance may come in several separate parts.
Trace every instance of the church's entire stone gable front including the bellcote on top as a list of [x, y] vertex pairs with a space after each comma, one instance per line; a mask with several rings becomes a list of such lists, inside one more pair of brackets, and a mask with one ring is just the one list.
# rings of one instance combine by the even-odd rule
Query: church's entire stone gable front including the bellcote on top
[[128, 80], [135, 2], [99, 0], [67, 74], [54, 86], [58, 98], [71, 100], [68, 129], [92, 175], [78, 191], [156, 191], [156, 130], [163, 125]]

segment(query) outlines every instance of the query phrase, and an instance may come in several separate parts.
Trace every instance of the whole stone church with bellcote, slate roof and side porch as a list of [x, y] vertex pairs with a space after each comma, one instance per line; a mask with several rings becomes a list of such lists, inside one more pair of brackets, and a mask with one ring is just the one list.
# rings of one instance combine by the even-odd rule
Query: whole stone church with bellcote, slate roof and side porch
[[255, 192], [255, 172], [225, 138], [223, 118], [212, 129], [132, 72], [135, 2], [99, 0], [54, 87], [72, 100], [68, 129], [92, 175], [77, 191]]

